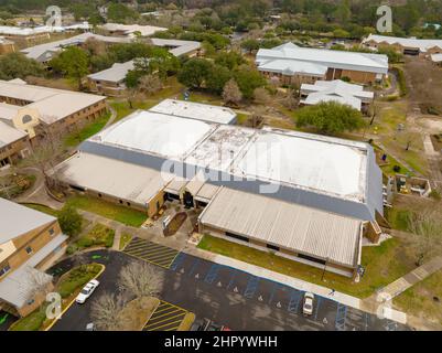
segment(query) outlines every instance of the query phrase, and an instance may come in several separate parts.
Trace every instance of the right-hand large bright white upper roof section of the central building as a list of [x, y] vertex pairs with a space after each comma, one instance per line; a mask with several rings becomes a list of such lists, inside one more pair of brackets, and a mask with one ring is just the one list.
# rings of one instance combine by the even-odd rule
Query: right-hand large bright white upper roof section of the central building
[[261, 132], [235, 172], [363, 202], [366, 150], [306, 136]]

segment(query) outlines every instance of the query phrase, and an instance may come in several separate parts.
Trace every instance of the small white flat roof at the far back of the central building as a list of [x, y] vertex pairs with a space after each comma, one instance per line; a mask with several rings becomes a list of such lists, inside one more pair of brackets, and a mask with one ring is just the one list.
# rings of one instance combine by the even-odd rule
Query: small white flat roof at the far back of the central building
[[149, 110], [218, 124], [233, 124], [236, 118], [230, 108], [176, 99], [164, 99]]

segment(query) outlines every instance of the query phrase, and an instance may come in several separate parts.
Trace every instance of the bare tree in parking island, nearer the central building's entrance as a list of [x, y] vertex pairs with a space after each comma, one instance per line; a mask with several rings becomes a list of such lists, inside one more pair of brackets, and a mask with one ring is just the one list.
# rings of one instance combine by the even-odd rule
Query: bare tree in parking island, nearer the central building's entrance
[[118, 284], [122, 290], [129, 291], [137, 299], [157, 296], [162, 288], [163, 279], [147, 263], [131, 261], [119, 275]]

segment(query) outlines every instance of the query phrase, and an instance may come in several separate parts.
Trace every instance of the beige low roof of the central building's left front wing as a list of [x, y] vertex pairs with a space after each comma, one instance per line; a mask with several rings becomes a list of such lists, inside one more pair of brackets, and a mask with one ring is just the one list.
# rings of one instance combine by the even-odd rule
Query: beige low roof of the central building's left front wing
[[60, 179], [105, 195], [145, 205], [174, 175], [96, 154], [79, 152], [55, 169]]

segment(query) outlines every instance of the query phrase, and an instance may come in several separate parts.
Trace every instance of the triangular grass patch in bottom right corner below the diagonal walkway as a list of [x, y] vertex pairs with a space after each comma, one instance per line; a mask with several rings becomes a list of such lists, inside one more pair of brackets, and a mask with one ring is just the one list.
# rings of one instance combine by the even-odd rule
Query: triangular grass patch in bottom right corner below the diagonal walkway
[[442, 270], [429, 276], [394, 299], [399, 309], [442, 324]]

